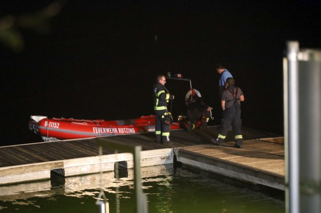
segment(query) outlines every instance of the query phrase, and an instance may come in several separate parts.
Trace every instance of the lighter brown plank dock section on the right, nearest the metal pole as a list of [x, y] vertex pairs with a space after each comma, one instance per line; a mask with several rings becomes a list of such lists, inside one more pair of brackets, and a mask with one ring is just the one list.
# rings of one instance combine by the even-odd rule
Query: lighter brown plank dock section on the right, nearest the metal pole
[[235, 179], [258, 183], [284, 190], [283, 138], [252, 139], [243, 142], [242, 149], [200, 145], [174, 149], [177, 161], [226, 175]]

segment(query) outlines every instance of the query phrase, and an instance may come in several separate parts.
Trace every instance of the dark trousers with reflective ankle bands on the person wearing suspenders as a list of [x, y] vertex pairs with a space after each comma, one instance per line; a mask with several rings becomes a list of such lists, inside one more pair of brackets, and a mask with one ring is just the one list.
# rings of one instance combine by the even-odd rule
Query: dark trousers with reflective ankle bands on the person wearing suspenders
[[238, 103], [233, 103], [231, 107], [225, 109], [222, 113], [221, 126], [219, 129], [219, 134], [216, 138], [219, 145], [223, 143], [231, 125], [233, 127], [236, 145], [242, 146], [243, 136], [241, 129], [241, 106]]

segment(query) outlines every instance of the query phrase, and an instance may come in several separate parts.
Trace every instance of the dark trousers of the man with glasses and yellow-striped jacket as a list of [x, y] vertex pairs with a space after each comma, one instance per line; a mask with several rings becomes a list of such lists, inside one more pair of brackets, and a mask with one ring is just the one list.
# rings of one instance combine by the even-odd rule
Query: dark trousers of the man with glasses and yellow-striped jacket
[[170, 124], [164, 123], [163, 115], [167, 113], [167, 110], [155, 110], [156, 114], [156, 142], [167, 142], [169, 141]]

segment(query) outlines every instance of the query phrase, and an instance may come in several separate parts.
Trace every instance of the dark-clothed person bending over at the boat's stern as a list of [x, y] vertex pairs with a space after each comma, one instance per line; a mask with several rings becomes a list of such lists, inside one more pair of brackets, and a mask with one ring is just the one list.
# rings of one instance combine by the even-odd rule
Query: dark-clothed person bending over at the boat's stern
[[[204, 102], [202, 96], [199, 96], [193, 88], [191, 91], [192, 93], [187, 102], [188, 131], [195, 129], [198, 121], [202, 121], [199, 128], [206, 128], [211, 116], [211, 107]], [[205, 115], [205, 118], [203, 118], [203, 114]], [[205, 121], [203, 121], [203, 119]]]

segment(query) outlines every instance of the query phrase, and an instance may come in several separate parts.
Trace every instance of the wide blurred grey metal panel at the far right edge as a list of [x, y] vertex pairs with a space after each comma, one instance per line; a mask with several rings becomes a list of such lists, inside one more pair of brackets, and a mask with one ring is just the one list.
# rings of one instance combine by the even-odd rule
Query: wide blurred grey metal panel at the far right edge
[[321, 213], [321, 50], [300, 50], [300, 212]]

